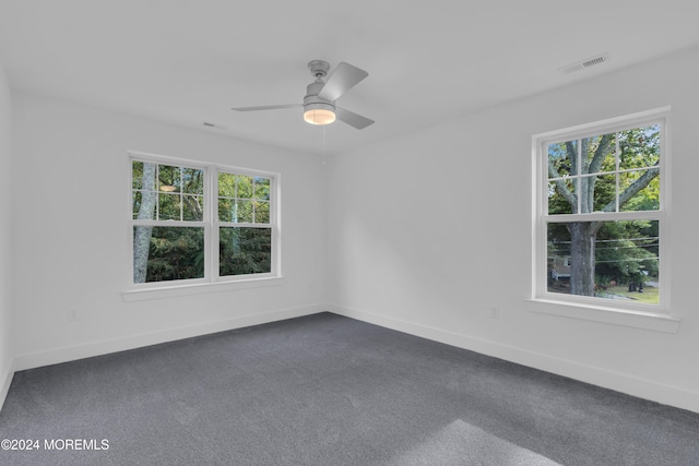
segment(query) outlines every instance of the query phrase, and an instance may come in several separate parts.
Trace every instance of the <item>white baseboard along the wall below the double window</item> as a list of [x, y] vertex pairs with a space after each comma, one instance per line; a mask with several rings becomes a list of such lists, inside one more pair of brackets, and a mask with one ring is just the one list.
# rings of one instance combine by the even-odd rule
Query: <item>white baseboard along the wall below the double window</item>
[[[241, 328], [251, 325], [265, 324], [286, 319], [300, 318], [303, 315], [316, 314], [328, 310], [325, 304], [312, 304], [300, 308], [280, 309], [269, 312], [253, 313], [223, 321], [204, 322], [196, 325], [188, 325], [176, 328], [167, 328], [159, 332], [151, 332], [131, 335], [123, 338], [115, 338], [102, 342], [94, 342], [78, 346], [66, 346], [52, 348], [50, 350], [19, 355], [14, 358], [14, 370], [38, 368], [43, 366], [57, 365], [73, 361], [76, 359], [102, 356], [110, 353], [123, 351], [128, 349], [141, 348], [161, 343], [174, 342], [182, 338], [208, 335], [216, 332], [225, 332], [234, 328]], [[10, 377], [11, 380], [11, 377]]]

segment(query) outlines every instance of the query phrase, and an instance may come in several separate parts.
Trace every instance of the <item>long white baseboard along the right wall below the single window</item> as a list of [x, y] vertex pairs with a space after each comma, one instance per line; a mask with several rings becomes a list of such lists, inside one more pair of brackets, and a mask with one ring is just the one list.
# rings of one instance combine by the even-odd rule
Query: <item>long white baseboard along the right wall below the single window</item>
[[514, 346], [461, 335], [442, 328], [430, 327], [400, 319], [388, 318], [371, 312], [328, 304], [328, 311], [339, 315], [428, 338], [459, 348], [470, 349], [483, 355], [505, 359], [522, 366], [564, 375], [581, 382], [626, 393], [639, 398], [699, 413], [699, 392], [666, 385], [636, 375], [611, 371], [608, 369], [582, 365], [576, 361], [556, 358], [541, 353], [529, 351]]

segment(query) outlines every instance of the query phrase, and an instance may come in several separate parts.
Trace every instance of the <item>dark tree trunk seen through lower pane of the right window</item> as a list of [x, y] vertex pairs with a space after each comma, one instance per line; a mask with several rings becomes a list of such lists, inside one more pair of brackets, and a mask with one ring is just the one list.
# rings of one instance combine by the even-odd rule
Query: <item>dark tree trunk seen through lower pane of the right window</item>
[[570, 231], [570, 294], [594, 296], [594, 242], [599, 226], [593, 222], [568, 224]]

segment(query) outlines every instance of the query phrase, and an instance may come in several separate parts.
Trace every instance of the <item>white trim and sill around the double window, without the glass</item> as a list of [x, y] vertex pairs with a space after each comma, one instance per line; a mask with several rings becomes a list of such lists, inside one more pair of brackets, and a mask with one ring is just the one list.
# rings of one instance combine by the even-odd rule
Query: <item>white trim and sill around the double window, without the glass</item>
[[[158, 154], [151, 154], [138, 151], [128, 151], [128, 212], [127, 218], [132, 218], [132, 179], [131, 164], [134, 159], [152, 162], [155, 164], [186, 166], [189, 168], [200, 168], [205, 172], [204, 178], [204, 219], [202, 222], [168, 222], [168, 226], [201, 226], [204, 228], [204, 277], [189, 278], [182, 280], [152, 282], [144, 284], [133, 283], [133, 225], [134, 220], [128, 223], [129, 239], [129, 261], [126, 267], [126, 283], [128, 284], [122, 291], [125, 301], [140, 301], [145, 299], [169, 298], [186, 295], [198, 295], [202, 292], [218, 292], [242, 288], [257, 288], [263, 286], [281, 285], [282, 275], [282, 241], [281, 241], [281, 174], [262, 171], [242, 167], [226, 166], [220, 164], [210, 164], [202, 160], [193, 160], [187, 158], [169, 157]], [[217, 193], [214, 179], [217, 179], [217, 172], [225, 171], [236, 175], [260, 176], [271, 179], [270, 186], [270, 227], [272, 228], [272, 268], [270, 273], [252, 274], [252, 275], [232, 275], [218, 276], [218, 241], [217, 231], [220, 225], [227, 225], [218, 222], [217, 212]], [[143, 223], [142, 220], [140, 223]], [[156, 222], [153, 222], [155, 225]], [[253, 226], [259, 224], [240, 224], [240, 227]], [[214, 231], [215, 229], [215, 231]]]

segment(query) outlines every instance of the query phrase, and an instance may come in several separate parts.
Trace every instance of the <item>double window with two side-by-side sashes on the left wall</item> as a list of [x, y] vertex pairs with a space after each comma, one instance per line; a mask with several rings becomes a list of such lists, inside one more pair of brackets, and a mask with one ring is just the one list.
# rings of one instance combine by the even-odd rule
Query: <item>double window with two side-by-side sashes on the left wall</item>
[[134, 287], [279, 276], [279, 176], [131, 155]]

